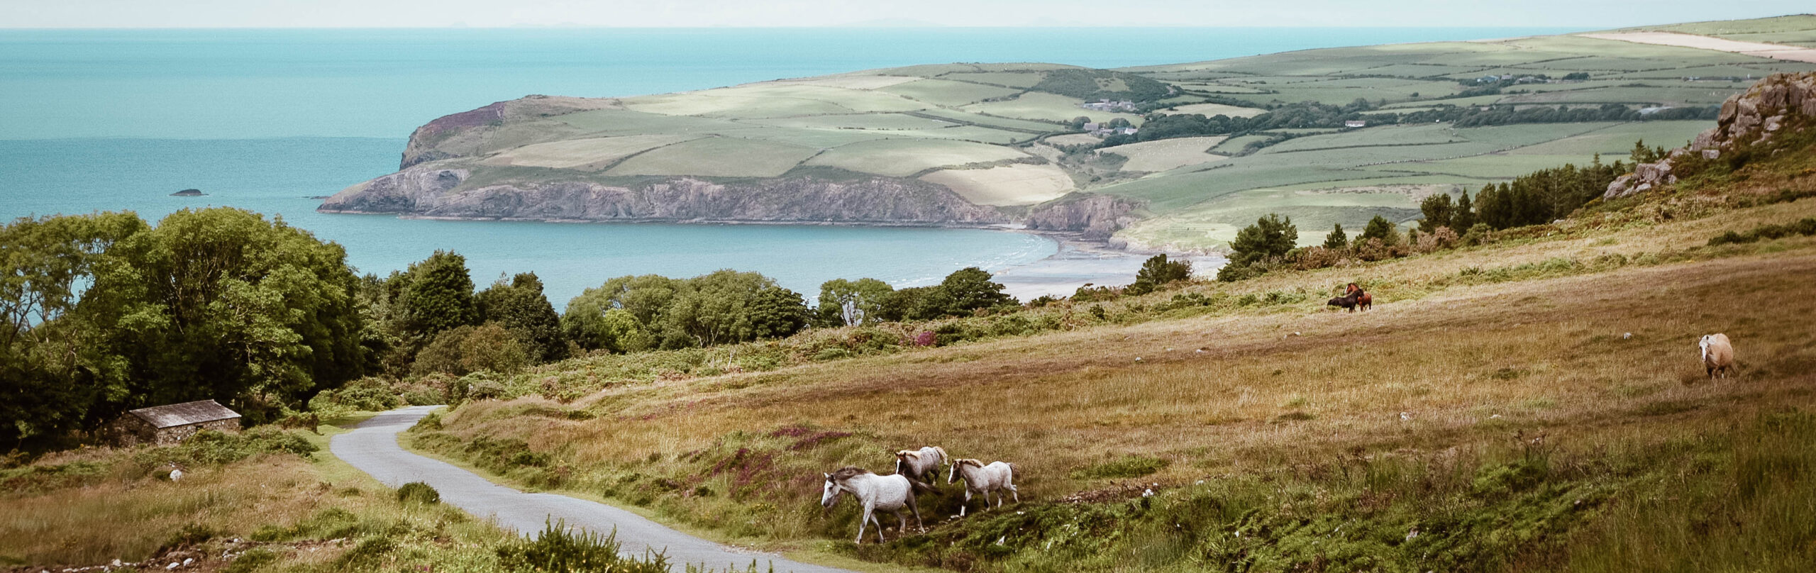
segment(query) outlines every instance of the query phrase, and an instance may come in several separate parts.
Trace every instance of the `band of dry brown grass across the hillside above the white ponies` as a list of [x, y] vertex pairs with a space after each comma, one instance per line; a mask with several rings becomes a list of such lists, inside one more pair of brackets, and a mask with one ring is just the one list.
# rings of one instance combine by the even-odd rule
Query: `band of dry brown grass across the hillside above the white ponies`
[[[616, 390], [594, 399], [607, 415], [592, 421], [461, 424], [518, 408], [472, 404], [450, 426], [599, 468], [808, 424], [1013, 461], [1022, 491], [1051, 499], [1093, 488], [1071, 470], [1130, 453], [1170, 461], [1153, 481], [1177, 482], [1351, 448], [1567, 439], [1807, 403], [1816, 299], [1791, 294], [1809, 294], [1812, 272], [1816, 256], [1800, 252], [1455, 286], [1367, 314], [1160, 321]], [[1700, 381], [1707, 332], [1736, 339], [1738, 381]]]

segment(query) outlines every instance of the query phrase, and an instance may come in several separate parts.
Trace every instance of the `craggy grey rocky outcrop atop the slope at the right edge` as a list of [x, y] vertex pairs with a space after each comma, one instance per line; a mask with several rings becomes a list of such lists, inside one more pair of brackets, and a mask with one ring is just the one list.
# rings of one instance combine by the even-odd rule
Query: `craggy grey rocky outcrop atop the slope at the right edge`
[[1673, 167], [1687, 160], [1716, 160], [1738, 147], [1765, 145], [1785, 129], [1801, 131], [1812, 121], [1816, 121], [1816, 73], [1765, 76], [1722, 103], [1716, 127], [1656, 163], [1634, 165], [1631, 174], [1609, 183], [1602, 198], [1625, 198], [1676, 183], [1678, 174]]

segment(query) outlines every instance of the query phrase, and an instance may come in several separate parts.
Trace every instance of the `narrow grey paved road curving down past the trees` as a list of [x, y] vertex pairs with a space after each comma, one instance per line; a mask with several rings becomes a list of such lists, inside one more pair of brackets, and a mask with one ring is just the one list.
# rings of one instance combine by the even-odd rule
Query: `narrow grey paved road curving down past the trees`
[[441, 491], [443, 502], [467, 510], [472, 515], [492, 517], [499, 526], [518, 529], [519, 533], [536, 535], [543, 531], [543, 524], [548, 520], [567, 520], [568, 526], [599, 533], [610, 533], [616, 528], [617, 540], [623, 544], [619, 551], [625, 555], [643, 555], [645, 546], [666, 551], [668, 560], [676, 564], [676, 571], [681, 571], [685, 564], [703, 564], [723, 571], [726, 566], [735, 564], [745, 568], [755, 560], [759, 571], [775, 564], [775, 571], [850, 573], [846, 569], [792, 562], [770, 553], [721, 546], [601, 502], [554, 493], [518, 491], [494, 484], [478, 473], [405, 452], [398, 446], [398, 432], [409, 430], [436, 408], [410, 406], [380, 413], [360, 422], [352, 432], [336, 435], [329, 442], [329, 452], [334, 452], [336, 457], [392, 488], [407, 482], [427, 482], [436, 491]]

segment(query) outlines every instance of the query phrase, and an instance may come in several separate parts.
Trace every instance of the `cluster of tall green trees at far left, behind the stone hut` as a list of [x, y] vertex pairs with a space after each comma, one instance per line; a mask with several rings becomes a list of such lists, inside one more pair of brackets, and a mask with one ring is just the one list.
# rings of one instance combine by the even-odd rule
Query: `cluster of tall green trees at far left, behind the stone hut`
[[231, 397], [256, 415], [365, 372], [345, 250], [238, 209], [0, 227], [0, 439]]

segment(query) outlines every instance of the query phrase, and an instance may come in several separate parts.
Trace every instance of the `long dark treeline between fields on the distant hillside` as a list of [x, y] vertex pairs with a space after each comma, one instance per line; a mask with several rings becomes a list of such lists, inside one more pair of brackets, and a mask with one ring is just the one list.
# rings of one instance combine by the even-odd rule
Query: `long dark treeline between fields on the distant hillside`
[[[1242, 105], [1251, 105], [1242, 102]], [[1099, 147], [1124, 143], [1197, 138], [1197, 136], [1242, 136], [1271, 129], [1340, 129], [1344, 121], [1360, 120], [1369, 125], [1415, 125], [1415, 123], [1451, 123], [1455, 127], [1487, 127], [1515, 123], [1576, 123], [1576, 121], [1651, 121], [1651, 120], [1714, 120], [1720, 107], [1673, 107], [1642, 114], [1620, 103], [1600, 107], [1458, 107], [1438, 105], [1435, 109], [1413, 112], [1377, 111], [1378, 102], [1355, 100], [1349, 105], [1329, 105], [1300, 102], [1275, 107], [1253, 118], [1231, 118], [1224, 114], [1148, 114], [1146, 123], [1133, 134], [1113, 134]]]

